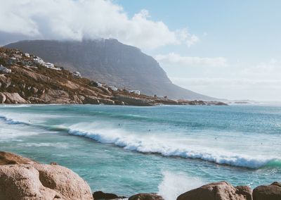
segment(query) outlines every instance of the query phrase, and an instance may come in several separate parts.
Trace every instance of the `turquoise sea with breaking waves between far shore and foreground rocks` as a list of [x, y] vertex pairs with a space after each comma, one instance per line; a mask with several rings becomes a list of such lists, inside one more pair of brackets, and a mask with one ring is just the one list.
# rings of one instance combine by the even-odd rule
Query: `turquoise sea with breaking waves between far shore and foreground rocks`
[[226, 180], [281, 181], [281, 106], [0, 106], [0, 151], [74, 170], [91, 186], [167, 200]]

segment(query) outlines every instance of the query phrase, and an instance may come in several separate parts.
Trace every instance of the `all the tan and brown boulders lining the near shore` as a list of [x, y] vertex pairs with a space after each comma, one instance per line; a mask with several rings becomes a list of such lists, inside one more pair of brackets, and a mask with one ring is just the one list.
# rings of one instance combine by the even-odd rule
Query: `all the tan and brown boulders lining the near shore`
[[[136, 194], [126, 198], [115, 194], [91, 192], [89, 185], [72, 170], [56, 163], [41, 164], [16, 154], [0, 151], [0, 199], [129, 199], [163, 200], [157, 194]], [[192, 189], [176, 200], [280, 200], [281, 183], [233, 187], [214, 182]]]

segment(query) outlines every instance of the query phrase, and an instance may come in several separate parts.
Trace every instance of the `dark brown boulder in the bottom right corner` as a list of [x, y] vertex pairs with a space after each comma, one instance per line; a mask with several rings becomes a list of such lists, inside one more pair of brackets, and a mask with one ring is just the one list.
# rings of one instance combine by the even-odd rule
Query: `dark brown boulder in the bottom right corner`
[[273, 182], [271, 185], [261, 185], [253, 190], [254, 200], [280, 200], [281, 183]]

